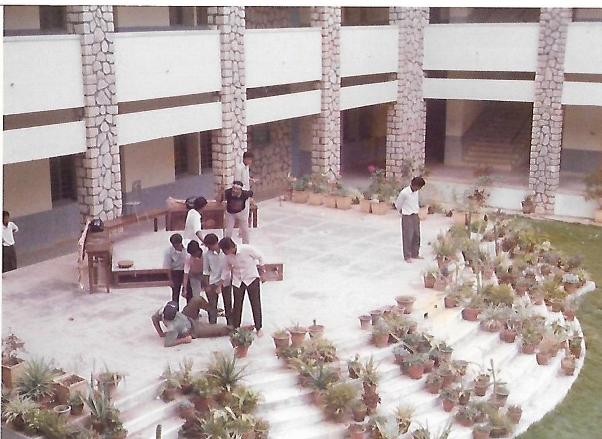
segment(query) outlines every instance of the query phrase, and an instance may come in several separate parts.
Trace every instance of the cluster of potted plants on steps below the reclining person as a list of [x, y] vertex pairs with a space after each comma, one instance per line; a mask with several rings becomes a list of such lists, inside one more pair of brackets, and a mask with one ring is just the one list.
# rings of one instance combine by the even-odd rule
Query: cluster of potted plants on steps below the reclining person
[[268, 423], [254, 416], [259, 394], [241, 384], [245, 367], [238, 366], [237, 355], [216, 352], [208, 367], [196, 372], [193, 364], [184, 358], [178, 370], [168, 365], [162, 375], [163, 400], [181, 395], [181, 437], [267, 439]]

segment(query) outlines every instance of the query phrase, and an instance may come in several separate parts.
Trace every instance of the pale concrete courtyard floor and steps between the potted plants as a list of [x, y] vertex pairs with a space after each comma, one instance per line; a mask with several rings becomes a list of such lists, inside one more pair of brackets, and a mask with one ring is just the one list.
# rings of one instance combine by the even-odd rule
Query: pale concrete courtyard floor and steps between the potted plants
[[[559, 357], [554, 364], [538, 369], [533, 356], [520, 355], [516, 345], [501, 343], [497, 334], [479, 332], [475, 324], [462, 322], [458, 309], [443, 309], [441, 296], [423, 288], [420, 272], [433, 265], [427, 243], [449, 226], [450, 220], [442, 215], [430, 215], [423, 221], [421, 253], [425, 259], [408, 264], [402, 256], [399, 215], [393, 210], [377, 216], [359, 212], [358, 206], [343, 211], [280, 203], [277, 198], [259, 203], [259, 227], [252, 229], [251, 242], [262, 250], [266, 263], [284, 263], [284, 281], [262, 285], [265, 336], [253, 343], [243, 363], [249, 363], [252, 387], [265, 391], [267, 401], [261, 411], [273, 425], [270, 437], [335, 438], [344, 434], [338, 427], [325, 429], [325, 424], [316, 420], [320, 412], [315, 407], [290, 407], [293, 396], [288, 395], [299, 398], [300, 391], [294, 386], [294, 374], [282, 372], [273, 354], [270, 333], [275, 328], [288, 327], [293, 322], [311, 325], [313, 319], [326, 326], [324, 336], [335, 342], [342, 360], [355, 352], [363, 358], [375, 354], [379, 360], [387, 355], [387, 364], [383, 364], [389, 387], [383, 389], [386, 410], [399, 404], [402, 395], [412, 395], [409, 402], [420, 404], [420, 422], [429, 420], [432, 431], [447, 420], [441, 403], [430, 398], [434, 395], [426, 394], [417, 382], [403, 377], [393, 364], [390, 351], [370, 347], [369, 334], [359, 330], [359, 315], [393, 305], [395, 296], [400, 294], [416, 296], [412, 318], [418, 321], [420, 330], [448, 340], [455, 348], [455, 358], [473, 361], [477, 370], [479, 365], [488, 364], [490, 357], [495, 358], [496, 364], [504, 364], [504, 378], [512, 384], [509, 404], [523, 404], [526, 411], [520, 431], [562, 400], [576, 377], [557, 376]], [[132, 245], [144, 242], [135, 236], [127, 239]], [[70, 373], [87, 377], [105, 365], [126, 373], [118, 393], [140, 394], [149, 386], [156, 387], [168, 362], [176, 366], [182, 358], [190, 357], [196, 367], [201, 367], [211, 352], [232, 349], [226, 337], [164, 348], [163, 340], [152, 327], [151, 315], [170, 296], [168, 287], [112, 289], [109, 294], [80, 290], [76, 254], [70, 254], [4, 275], [2, 334], [11, 331], [21, 337], [28, 351], [26, 357], [54, 358]], [[182, 305], [183, 302], [182, 299]], [[424, 313], [428, 313], [426, 319]], [[243, 324], [252, 324], [248, 301]], [[553, 386], [549, 385], [551, 381]], [[533, 394], [539, 396], [538, 401], [532, 401]], [[299, 401], [305, 404], [302, 398]], [[135, 404], [138, 402], [132, 401], [120, 408], [128, 410]], [[143, 413], [144, 410], [138, 410], [132, 417]], [[170, 419], [173, 410], [161, 416]], [[173, 432], [178, 428], [176, 420]], [[134, 437], [151, 437], [155, 423], [160, 422], [149, 419], [152, 429], [140, 427], [141, 432]], [[134, 423], [126, 428], [132, 431]], [[470, 435], [469, 429], [458, 426], [455, 430], [450, 437]]]

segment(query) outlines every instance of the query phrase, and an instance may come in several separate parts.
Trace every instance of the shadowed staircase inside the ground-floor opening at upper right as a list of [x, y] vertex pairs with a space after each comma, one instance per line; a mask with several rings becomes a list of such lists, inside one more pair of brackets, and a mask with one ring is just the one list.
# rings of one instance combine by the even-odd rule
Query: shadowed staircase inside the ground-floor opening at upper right
[[462, 161], [471, 167], [513, 171], [529, 163], [528, 106], [491, 103], [462, 137]]

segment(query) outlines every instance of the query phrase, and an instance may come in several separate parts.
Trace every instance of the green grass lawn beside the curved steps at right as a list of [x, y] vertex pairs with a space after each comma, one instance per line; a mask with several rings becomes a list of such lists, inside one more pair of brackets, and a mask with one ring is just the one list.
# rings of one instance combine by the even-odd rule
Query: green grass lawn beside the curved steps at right
[[587, 346], [585, 366], [556, 410], [532, 425], [520, 439], [602, 437], [602, 227], [559, 221], [532, 221], [552, 245], [583, 257], [598, 288], [582, 302], [579, 319]]

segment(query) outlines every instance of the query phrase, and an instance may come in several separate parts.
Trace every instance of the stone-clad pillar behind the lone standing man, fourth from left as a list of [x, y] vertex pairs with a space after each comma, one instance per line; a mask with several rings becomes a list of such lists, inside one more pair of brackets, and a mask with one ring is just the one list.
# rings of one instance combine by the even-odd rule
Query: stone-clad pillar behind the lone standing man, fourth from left
[[386, 173], [400, 176], [403, 159], [412, 168], [424, 164], [426, 104], [424, 79], [424, 28], [429, 8], [389, 7], [389, 25], [399, 26], [397, 100], [389, 104], [386, 117]]

